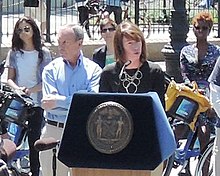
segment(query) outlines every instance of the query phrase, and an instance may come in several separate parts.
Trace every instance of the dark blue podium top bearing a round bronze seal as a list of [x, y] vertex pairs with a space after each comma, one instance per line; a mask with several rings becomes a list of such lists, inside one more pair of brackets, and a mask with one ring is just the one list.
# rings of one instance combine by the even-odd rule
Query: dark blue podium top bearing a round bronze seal
[[156, 93], [76, 93], [58, 159], [73, 168], [154, 170], [175, 149]]

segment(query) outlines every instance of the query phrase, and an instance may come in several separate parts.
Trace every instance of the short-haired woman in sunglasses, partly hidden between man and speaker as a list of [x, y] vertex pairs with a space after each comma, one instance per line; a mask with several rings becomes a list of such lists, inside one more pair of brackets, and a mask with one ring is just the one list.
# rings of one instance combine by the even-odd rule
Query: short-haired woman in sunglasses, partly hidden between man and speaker
[[95, 49], [92, 60], [99, 64], [101, 68], [115, 62], [113, 35], [116, 27], [117, 24], [110, 18], [104, 18], [100, 23], [100, 31], [102, 38], [105, 40], [105, 45]]

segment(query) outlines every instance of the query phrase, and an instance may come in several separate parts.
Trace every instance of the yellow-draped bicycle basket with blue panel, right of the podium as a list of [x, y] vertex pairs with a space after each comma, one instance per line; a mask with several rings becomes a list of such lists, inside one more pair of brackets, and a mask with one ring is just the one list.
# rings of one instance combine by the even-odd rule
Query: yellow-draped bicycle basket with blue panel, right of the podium
[[196, 82], [193, 88], [171, 81], [166, 92], [166, 112], [171, 117], [191, 124], [192, 128], [199, 113], [211, 108], [209, 100], [198, 91]]

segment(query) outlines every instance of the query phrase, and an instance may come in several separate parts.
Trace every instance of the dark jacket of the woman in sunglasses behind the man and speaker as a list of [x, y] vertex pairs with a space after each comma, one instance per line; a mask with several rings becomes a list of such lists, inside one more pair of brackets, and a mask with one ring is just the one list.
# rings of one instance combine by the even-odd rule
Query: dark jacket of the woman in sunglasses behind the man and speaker
[[95, 49], [92, 60], [99, 64], [101, 68], [105, 67], [105, 61], [106, 61], [106, 52], [107, 52], [107, 46], [101, 46], [100, 48]]

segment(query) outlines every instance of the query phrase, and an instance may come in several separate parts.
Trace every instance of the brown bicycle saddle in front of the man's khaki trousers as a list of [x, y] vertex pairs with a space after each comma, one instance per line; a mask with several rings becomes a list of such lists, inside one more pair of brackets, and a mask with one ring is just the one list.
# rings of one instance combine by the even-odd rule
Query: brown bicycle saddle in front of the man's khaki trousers
[[59, 140], [54, 139], [53, 137], [38, 139], [34, 143], [34, 148], [37, 151], [49, 150], [56, 147], [60, 143]]

